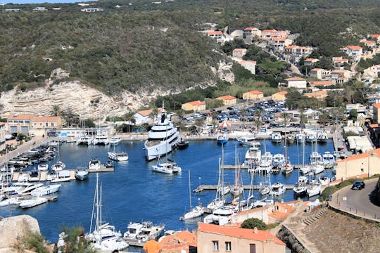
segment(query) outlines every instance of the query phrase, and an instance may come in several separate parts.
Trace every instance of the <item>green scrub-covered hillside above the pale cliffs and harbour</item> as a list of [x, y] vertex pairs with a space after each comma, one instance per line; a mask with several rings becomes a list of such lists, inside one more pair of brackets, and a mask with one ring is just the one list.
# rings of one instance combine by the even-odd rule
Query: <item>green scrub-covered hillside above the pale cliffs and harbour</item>
[[[4, 6], [23, 12], [0, 13], [0, 91], [16, 84], [25, 89], [42, 85], [57, 67], [69, 72], [70, 78], [111, 94], [158, 88], [177, 93], [217, 84], [210, 67], [225, 56], [215, 41], [199, 32], [207, 28], [206, 22], [220, 29], [229, 26], [231, 32], [248, 26], [291, 30], [300, 34], [296, 44], [317, 47], [312, 54], [317, 58], [337, 56], [341, 46], [380, 33], [380, 2], [375, 0], [128, 3], [98, 1], [96, 7], [104, 9], [101, 13], [82, 13], [76, 4]], [[115, 8], [117, 4], [121, 8]], [[32, 12], [35, 6], [63, 9]], [[274, 87], [286, 65], [272, 59], [260, 62], [255, 59], [256, 48], [250, 52], [249, 58], [259, 63], [258, 76], [249, 77], [251, 82]], [[238, 77], [242, 75], [239, 67], [234, 70], [240, 72]], [[236, 84], [253, 86], [239, 78]]]

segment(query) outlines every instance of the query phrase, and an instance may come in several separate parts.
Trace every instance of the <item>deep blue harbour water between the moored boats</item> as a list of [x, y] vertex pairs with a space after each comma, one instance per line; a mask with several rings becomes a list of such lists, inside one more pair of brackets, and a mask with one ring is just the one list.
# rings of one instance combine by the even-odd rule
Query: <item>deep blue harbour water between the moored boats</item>
[[[238, 160], [243, 162], [248, 147], [235, 145], [236, 141], [229, 141], [224, 145], [224, 164], [234, 164], [235, 146]], [[260, 149], [264, 150], [263, 143]], [[189, 148], [176, 150], [170, 154], [180, 167], [182, 173], [177, 175], [158, 174], [151, 170], [151, 165], [156, 161], [147, 162], [144, 157], [144, 143], [141, 141], [127, 141], [121, 143], [117, 149], [125, 150], [129, 155], [127, 162], [115, 162], [115, 171], [99, 174], [103, 190], [103, 220], [115, 225], [122, 233], [127, 230], [129, 221], [153, 221], [153, 223], [165, 223], [166, 229], [190, 231], [197, 227], [197, 222], [179, 221], [189, 209], [189, 171], [191, 173], [191, 189], [201, 183], [217, 184], [218, 160], [222, 156], [222, 146], [216, 141], [191, 141]], [[63, 143], [61, 145], [61, 160], [68, 169], [87, 167], [91, 157], [97, 157], [101, 162], [106, 162], [108, 146], [77, 146], [75, 143]], [[272, 154], [284, 153], [284, 146], [266, 141], [266, 149]], [[302, 146], [289, 145], [288, 155], [292, 164], [302, 163]], [[318, 152], [333, 152], [333, 143], [329, 141], [324, 145], [318, 145]], [[299, 155], [297, 156], [297, 153]], [[311, 153], [311, 146], [305, 145], [305, 159]], [[299, 159], [299, 161], [298, 161]], [[50, 162], [50, 164], [53, 162]], [[234, 183], [234, 169], [224, 170], [224, 181]], [[331, 170], [324, 172], [331, 176]], [[249, 184], [251, 176], [246, 170], [241, 171], [244, 184]], [[319, 176], [319, 175], [318, 175]], [[297, 181], [298, 171], [295, 170], [289, 176], [282, 174], [271, 175], [271, 181], [281, 181], [293, 184]], [[254, 183], [262, 181], [262, 177], [256, 176]], [[70, 181], [62, 183], [57, 193], [58, 201], [30, 209], [18, 207], [2, 207], [0, 216], [30, 214], [39, 221], [39, 226], [47, 240], [54, 242], [61, 226], [84, 226], [89, 231], [91, 210], [94, 202], [94, 190], [96, 186], [96, 174], [90, 174], [87, 181]], [[191, 193], [193, 205], [203, 202], [207, 205], [215, 197], [215, 191], [203, 191]], [[256, 193], [256, 200], [260, 195]], [[284, 201], [293, 200], [293, 191], [287, 190]], [[315, 198], [314, 198], [315, 199]], [[313, 199], [313, 200], [314, 200]]]

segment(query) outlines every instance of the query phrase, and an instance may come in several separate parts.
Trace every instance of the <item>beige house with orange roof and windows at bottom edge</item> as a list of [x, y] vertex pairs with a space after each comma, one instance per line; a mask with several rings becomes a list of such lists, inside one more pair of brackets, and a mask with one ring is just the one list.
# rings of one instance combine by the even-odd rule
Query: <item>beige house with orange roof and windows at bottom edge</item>
[[268, 231], [257, 228], [198, 223], [198, 253], [285, 253], [286, 245]]

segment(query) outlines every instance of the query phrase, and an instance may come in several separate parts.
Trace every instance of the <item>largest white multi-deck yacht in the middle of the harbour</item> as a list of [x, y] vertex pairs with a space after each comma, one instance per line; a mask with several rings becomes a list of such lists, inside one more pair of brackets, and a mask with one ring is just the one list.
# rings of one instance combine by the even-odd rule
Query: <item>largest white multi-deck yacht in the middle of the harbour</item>
[[170, 153], [175, 149], [180, 139], [177, 127], [173, 125], [170, 119], [167, 119], [163, 107], [160, 120], [153, 124], [151, 131], [148, 132], [148, 140], [144, 144], [146, 159], [153, 160]]

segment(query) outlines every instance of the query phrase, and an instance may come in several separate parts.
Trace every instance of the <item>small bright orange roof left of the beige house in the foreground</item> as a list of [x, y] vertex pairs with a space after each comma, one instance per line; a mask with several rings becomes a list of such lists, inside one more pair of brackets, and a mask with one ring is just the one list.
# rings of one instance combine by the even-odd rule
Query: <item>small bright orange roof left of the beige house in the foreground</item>
[[163, 253], [165, 252], [180, 252], [181, 249], [189, 252], [189, 246], [197, 245], [196, 234], [189, 231], [179, 231], [174, 235], [168, 235], [160, 242], [163, 247]]

